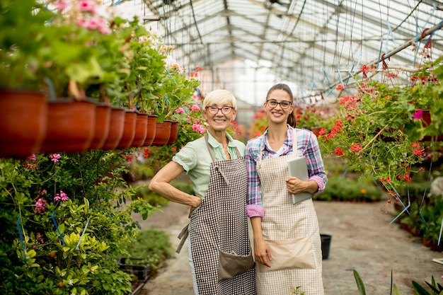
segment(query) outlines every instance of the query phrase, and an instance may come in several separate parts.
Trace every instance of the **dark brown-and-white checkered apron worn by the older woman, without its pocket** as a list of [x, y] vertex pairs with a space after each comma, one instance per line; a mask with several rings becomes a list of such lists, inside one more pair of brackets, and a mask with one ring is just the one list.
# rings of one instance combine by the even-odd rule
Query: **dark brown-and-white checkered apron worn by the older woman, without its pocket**
[[[207, 141], [207, 139], [206, 139]], [[250, 251], [246, 217], [246, 161], [215, 161], [212, 156], [209, 188], [200, 208], [192, 214], [189, 238], [200, 295], [250, 295], [255, 291], [255, 269], [218, 282], [219, 250], [248, 255]]]

